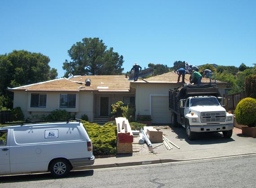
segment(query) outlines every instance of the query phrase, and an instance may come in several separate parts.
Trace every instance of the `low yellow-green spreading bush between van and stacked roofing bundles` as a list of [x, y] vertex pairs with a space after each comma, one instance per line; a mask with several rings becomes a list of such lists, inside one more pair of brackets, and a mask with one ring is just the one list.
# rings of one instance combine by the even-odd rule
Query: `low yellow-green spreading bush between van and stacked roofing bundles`
[[92, 124], [82, 121], [93, 143], [93, 155], [116, 154], [116, 125]]

